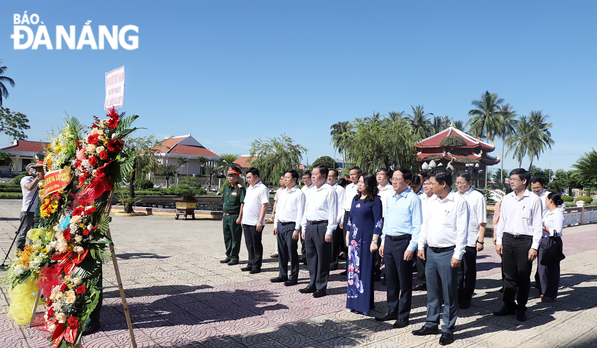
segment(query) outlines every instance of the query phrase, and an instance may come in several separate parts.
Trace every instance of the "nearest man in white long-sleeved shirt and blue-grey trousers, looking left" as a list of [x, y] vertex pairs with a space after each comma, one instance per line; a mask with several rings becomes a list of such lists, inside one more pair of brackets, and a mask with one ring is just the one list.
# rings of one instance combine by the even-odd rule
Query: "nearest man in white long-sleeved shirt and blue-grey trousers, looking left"
[[[429, 175], [436, 198], [429, 202], [418, 238], [418, 257], [426, 258], [427, 318], [422, 328], [413, 331], [422, 336], [438, 334], [439, 310], [444, 297], [444, 325], [439, 344], [454, 341], [458, 317], [458, 267], [460, 267], [469, 229], [469, 205], [452, 189], [452, 172], [436, 170]], [[427, 257], [424, 248], [427, 245]]]

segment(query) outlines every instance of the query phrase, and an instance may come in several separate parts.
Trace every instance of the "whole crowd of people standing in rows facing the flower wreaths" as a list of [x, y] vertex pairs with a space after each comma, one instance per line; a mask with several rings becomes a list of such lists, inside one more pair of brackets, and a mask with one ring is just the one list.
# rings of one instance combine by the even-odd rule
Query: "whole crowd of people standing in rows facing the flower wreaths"
[[[247, 187], [238, 183], [240, 174], [238, 167], [229, 166], [230, 184], [222, 196], [226, 258], [220, 262], [238, 264], [242, 231], [249, 260], [241, 270], [260, 273], [269, 190], [257, 168], [246, 171]], [[368, 315], [375, 307], [374, 282], [382, 280], [387, 304], [384, 315], [375, 319], [395, 321], [393, 327], [404, 328], [409, 325], [413, 290], [427, 291], [425, 324], [412, 333], [441, 332], [439, 343], [452, 343], [458, 310], [470, 307], [475, 291], [476, 258], [484, 250], [487, 226], [485, 196], [473, 189], [469, 173], [454, 175], [447, 168], [417, 174], [406, 168], [380, 168], [373, 174], [352, 167], [348, 174], [349, 180], [338, 178], [336, 169], [316, 165], [303, 172], [301, 189], [296, 170], [282, 175], [273, 215], [279, 274], [271, 281], [296, 285], [299, 264], [306, 263], [309, 284], [298, 291], [323, 297], [330, 270], [337, 270], [346, 258], [340, 274], [346, 275], [347, 309]], [[537, 257], [535, 278], [541, 300], [556, 298], [563, 256], [556, 255], [556, 262], [543, 253], [553, 244], [562, 245], [564, 205], [561, 196], [544, 190], [541, 178], [531, 179], [522, 168], [510, 173], [508, 188], [511, 192], [496, 204], [493, 221], [504, 303], [494, 315], [515, 315], [525, 321]], [[413, 270], [418, 273], [414, 287]]]

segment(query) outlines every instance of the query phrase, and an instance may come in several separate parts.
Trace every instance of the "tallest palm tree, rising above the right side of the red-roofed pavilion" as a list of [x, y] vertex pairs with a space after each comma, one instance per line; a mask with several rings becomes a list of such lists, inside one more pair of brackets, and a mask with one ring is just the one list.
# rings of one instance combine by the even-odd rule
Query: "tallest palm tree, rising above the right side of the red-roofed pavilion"
[[481, 138], [482, 132], [485, 131], [487, 141], [493, 140], [500, 117], [500, 106], [503, 103], [503, 98], [495, 93], [489, 93], [489, 91], [481, 94], [481, 99], [472, 101], [471, 104], [475, 106], [475, 109], [469, 111], [471, 118], [466, 124], [470, 124], [471, 130], [477, 138]]

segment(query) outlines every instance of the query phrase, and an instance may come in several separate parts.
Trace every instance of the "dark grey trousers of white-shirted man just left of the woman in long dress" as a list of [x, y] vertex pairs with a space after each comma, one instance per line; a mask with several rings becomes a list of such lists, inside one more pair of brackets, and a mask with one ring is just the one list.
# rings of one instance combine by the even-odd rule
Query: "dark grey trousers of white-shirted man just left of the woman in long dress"
[[307, 251], [307, 267], [309, 267], [309, 288], [325, 290], [330, 275], [330, 258], [332, 244], [325, 241], [328, 223], [309, 224], [304, 233], [304, 244]]

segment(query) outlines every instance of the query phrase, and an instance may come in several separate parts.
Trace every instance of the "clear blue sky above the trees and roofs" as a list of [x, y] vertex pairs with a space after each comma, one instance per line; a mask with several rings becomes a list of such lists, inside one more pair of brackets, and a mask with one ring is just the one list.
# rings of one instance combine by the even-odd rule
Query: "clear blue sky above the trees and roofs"
[[[334, 155], [338, 121], [411, 104], [466, 121], [489, 90], [519, 113], [551, 116], [555, 147], [536, 163], [567, 169], [596, 144], [596, 10], [593, 1], [13, 1], [0, 12], [0, 58], [17, 83], [4, 106], [29, 116], [30, 140], [45, 140], [63, 110], [87, 124], [103, 115], [103, 74], [124, 65], [118, 110], [140, 115], [138, 127], [191, 133], [216, 153], [286, 133], [312, 162]], [[139, 26], [139, 48], [13, 50], [13, 14], [24, 11], [44, 21], [54, 48], [56, 25], [79, 35], [87, 20], [96, 39], [101, 24]], [[504, 168], [515, 168], [510, 157]]]

